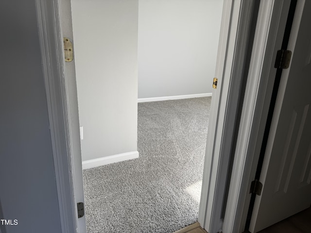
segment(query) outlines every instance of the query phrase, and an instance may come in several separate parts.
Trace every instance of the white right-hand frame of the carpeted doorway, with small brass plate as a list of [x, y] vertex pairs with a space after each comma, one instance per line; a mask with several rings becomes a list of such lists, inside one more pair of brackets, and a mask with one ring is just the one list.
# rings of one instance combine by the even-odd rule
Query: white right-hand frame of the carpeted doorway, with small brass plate
[[228, 167], [236, 124], [239, 124], [243, 72], [247, 69], [250, 27], [255, 1], [225, 0], [221, 24], [214, 90], [207, 133], [198, 222], [210, 233], [221, 232]]

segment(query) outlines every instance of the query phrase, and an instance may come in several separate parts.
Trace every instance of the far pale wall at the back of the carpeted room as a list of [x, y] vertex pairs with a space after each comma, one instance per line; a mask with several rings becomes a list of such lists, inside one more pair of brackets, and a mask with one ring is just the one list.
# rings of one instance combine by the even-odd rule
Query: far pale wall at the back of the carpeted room
[[139, 0], [138, 98], [212, 92], [223, 0]]

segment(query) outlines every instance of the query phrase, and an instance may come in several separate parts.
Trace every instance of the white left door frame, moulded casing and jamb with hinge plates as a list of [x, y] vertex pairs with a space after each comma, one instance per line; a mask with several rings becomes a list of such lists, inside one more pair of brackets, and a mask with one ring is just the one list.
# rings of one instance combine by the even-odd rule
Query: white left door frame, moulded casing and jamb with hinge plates
[[64, 58], [63, 37], [73, 42], [70, 0], [35, 4], [62, 232], [86, 233], [86, 217], [77, 213], [84, 192], [75, 66]]

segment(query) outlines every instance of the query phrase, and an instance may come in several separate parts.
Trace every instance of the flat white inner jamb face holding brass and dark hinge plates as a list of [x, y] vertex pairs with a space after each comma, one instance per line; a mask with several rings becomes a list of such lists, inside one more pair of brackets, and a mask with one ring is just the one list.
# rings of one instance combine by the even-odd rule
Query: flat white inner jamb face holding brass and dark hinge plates
[[[70, 0], [60, 0], [61, 4], [61, 21], [63, 36], [69, 38], [73, 44], [72, 33], [72, 17]], [[70, 124], [70, 144], [72, 153], [72, 169], [73, 169], [73, 192], [75, 202], [84, 202], [83, 178], [82, 178], [82, 158], [79, 132], [79, 115], [78, 115], [78, 98], [74, 55], [71, 62], [65, 63], [67, 98], [69, 101], [69, 124]], [[77, 219], [78, 233], [86, 233], [86, 216]]]

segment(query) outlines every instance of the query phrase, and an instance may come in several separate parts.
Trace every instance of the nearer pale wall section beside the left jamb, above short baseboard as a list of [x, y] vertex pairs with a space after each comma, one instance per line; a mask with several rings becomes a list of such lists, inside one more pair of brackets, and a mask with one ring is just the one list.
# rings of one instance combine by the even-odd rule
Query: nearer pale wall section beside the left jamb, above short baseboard
[[138, 0], [71, 0], [82, 160], [137, 151]]

